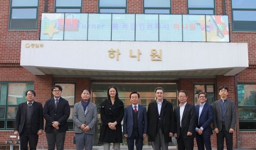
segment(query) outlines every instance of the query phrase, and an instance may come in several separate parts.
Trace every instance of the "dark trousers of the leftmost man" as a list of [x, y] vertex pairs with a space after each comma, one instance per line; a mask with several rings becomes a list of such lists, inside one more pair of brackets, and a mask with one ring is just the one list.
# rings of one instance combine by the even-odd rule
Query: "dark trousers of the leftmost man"
[[20, 149], [28, 150], [28, 143], [30, 150], [36, 150], [38, 143], [38, 135], [32, 132], [32, 129], [23, 128], [20, 134]]

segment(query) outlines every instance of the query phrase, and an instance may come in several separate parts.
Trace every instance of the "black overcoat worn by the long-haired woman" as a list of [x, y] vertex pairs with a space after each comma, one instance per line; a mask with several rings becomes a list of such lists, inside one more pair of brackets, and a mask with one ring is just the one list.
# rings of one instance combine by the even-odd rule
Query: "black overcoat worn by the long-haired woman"
[[[104, 100], [100, 104], [100, 118], [102, 125], [100, 128], [99, 142], [122, 143], [122, 125], [124, 118], [124, 103], [118, 98], [114, 104], [110, 100]], [[108, 127], [109, 122], [117, 122], [116, 130]]]

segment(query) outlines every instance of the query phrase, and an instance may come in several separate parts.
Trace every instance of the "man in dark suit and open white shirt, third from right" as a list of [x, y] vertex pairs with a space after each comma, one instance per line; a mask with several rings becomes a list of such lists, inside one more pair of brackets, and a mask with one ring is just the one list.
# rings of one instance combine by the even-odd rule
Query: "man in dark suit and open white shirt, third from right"
[[174, 109], [175, 132], [178, 150], [193, 150], [195, 137], [196, 115], [194, 105], [187, 103], [188, 93], [178, 92], [179, 107]]

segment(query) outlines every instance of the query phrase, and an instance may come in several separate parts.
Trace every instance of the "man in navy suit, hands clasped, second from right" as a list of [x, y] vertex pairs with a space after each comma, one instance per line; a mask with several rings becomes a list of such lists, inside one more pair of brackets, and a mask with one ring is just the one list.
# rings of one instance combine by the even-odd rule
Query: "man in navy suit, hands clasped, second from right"
[[198, 94], [199, 105], [195, 106], [196, 114], [196, 144], [198, 150], [212, 150], [211, 147], [211, 135], [212, 128], [211, 123], [213, 121], [212, 105], [206, 103], [207, 94], [200, 92]]

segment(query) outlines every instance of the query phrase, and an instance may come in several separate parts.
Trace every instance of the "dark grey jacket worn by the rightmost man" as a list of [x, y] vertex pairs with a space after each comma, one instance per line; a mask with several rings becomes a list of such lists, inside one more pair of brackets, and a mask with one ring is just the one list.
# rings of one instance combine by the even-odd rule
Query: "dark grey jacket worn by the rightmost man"
[[[222, 111], [220, 106], [220, 100], [215, 101], [212, 104], [213, 108], [213, 127], [222, 130]], [[225, 128], [228, 132], [230, 128], [235, 130], [236, 126], [236, 104], [234, 101], [227, 99], [225, 105]]]

